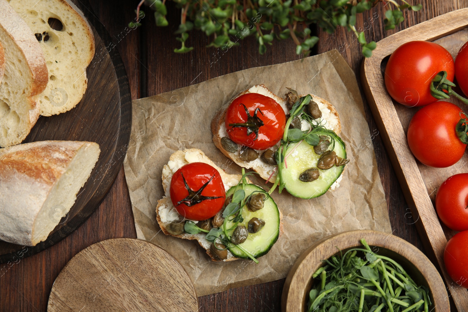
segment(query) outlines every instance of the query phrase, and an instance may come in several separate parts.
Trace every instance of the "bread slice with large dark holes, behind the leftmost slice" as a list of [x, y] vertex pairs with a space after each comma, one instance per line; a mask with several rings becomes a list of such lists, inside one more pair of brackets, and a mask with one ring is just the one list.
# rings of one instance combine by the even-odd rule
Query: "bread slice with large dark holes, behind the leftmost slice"
[[40, 95], [41, 115], [73, 109], [88, 85], [86, 67], [95, 41], [82, 12], [65, 0], [9, 0], [28, 24], [44, 51], [49, 83]]

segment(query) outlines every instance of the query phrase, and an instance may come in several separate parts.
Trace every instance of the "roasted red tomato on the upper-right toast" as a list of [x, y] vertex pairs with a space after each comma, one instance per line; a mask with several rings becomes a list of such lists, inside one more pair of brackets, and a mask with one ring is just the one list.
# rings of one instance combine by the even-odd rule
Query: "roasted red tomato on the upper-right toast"
[[[246, 110], [249, 111], [249, 120]], [[252, 126], [242, 126], [246, 122]], [[247, 93], [239, 96], [229, 105], [225, 125], [229, 138], [235, 143], [255, 150], [266, 150], [277, 144], [283, 136], [286, 115], [281, 106], [271, 97]]]

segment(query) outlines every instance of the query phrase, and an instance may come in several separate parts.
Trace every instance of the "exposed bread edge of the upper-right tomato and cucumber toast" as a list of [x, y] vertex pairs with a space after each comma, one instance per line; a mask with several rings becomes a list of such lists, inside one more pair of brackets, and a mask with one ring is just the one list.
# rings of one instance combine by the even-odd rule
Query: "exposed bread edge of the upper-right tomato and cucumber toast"
[[[258, 86], [266, 88], [264, 85], [258, 85]], [[268, 90], [268, 88], [266, 88], [266, 89]], [[246, 94], [246, 93], [249, 93], [249, 90], [242, 91], [241, 93], [234, 96], [234, 98], [231, 101], [227, 102], [226, 105], [224, 105], [221, 109], [218, 110], [218, 112], [216, 113], [216, 115], [214, 116], [214, 118], [213, 118], [213, 120], [211, 122], [211, 132], [213, 134], [213, 143], [214, 143], [214, 145], [216, 145], [216, 147], [218, 147], [218, 149], [227, 158], [229, 158], [230, 160], [233, 160], [237, 165], [239, 165], [240, 167], [244, 167], [244, 168], [246, 167], [247, 163], [245, 161], [242, 161], [239, 158], [239, 155], [237, 153], [227, 152], [223, 148], [223, 146], [221, 145], [221, 137], [219, 136], [219, 130], [221, 129], [221, 127], [225, 126], [224, 122], [225, 122], [225, 119], [226, 119], [226, 111], [227, 111], [227, 108], [229, 107], [229, 105], [234, 101], [234, 99], [236, 99], [239, 96], [241, 96], [243, 94]], [[312, 95], [313, 99], [318, 100], [318, 101], [322, 102], [323, 104], [325, 104], [326, 107], [330, 110], [331, 114], [336, 116], [336, 118], [338, 120], [338, 124], [336, 126], [336, 129], [333, 129], [333, 130], [335, 131], [336, 134], [341, 133], [340, 116], [338, 115], [338, 112], [336, 111], [335, 107], [330, 102], [328, 102], [327, 100], [322, 99], [321, 97], [316, 96], [314, 94], [311, 94], [311, 95]], [[300, 95], [300, 96], [304, 96], [304, 94]], [[263, 170], [258, 170], [258, 169], [255, 169], [255, 168], [251, 168], [251, 169], [254, 170], [257, 174], [259, 174], [260, 177], [262, 177], [262, 179], [264, 179], [264, 180], [267, 180], [270, 177], [270, 174], [268, 174], [267, 172], [265, 172]]]

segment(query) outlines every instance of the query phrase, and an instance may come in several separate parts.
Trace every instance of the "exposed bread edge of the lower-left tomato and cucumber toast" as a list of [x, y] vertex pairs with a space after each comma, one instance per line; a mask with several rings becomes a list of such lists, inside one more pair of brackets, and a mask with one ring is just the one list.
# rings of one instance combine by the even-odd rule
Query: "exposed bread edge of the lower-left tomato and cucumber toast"
[[[214, 162], [212, 162], [206, 155], [204, 152], [196, 149], [196, 148], [190, 148], [190, 149], [186, 149], [186, 150], [179, 150], [179, 151], [176, 151], [174, 152], [169, 160], [171, 161], [176, 161], [176, 160], [180, 160], [180, 159], [184, 159], [185, 157], [185, 153], [186, 152], [199, 152], [200, 154], [202, 154], [202, 157], [203, 157], [203, 160], [204, 162], [208, 163], [209, 165], [211, 165], [212, 167], [214, 167], [216, 170], [218, 170], [219, 174], [221, 175], [221, 179], [223, 181], [227, 181], [229, 179], [236, 179], [237, 181], [240, 181], [241, 178], [242, 178], [242, 175], [241, 174], [227, 174], [224, 172], [224, 170], [222, 170], [221, 168], [219, 168], [218, 166], [216, 166], [216, 164]], [[164, 165], [164, 168], [165, 169], [169, 169], [168, 165]], [[164, 175], [161, 176], [162, 178], [162, 187], [164, 189], [164, 193], [165, 194], [168, 194], [168, 189], [170, 187], [170, 181], [167, 181], [166, 177]], [[247, 179], [248, 180], [248, 179]], [[249, 180], [248, 180], [249, 181]], [[169, 197], [165, 197], [165, 198], [162, 198], [160, 200], [158, 200], [158, 205], [156, 206], [156, 220], [158, 222], [158, 225], [159, 227], [161, 228], [161, 231], [166, 234], [166, 235], [172, 235], [170, 234], [167, 230], [166, 230], [166, 225], [164, 224], [164, 222], [161, 221], [161, 217], [159, 215], [159, 209], [162, 207], [162, 206], [169, 206], [169, 205], [172, 205], [172, 202], [170, 200]], [[281, 211], [279, 211], [279, 217], [280, 217], [280, 223], [279, 223], [279, 236], [281, 236], [281, 234], [284, 232], [283, 230], [283, 224], [281, 222], [282, 218], [283, 218], [283, 215], [281, 213]], [[205, 239], [205, 235], [203, 234], [197, 234], [197, 235], [192, 235], [192, 234], [188, 234], [188, 233], [184, 233], [184, 234], [181, 234], [181, 235], [172, 235], [172, 236], [175, 236], [175, 237], [178, 237], [178, 238], [181, 238], [181, 239], [196, 239], [198, 241], [198, 244], [204, 248], [206, 250], [206, 254], [208, 254], [211, 258], [212, 261], [220, 261], [218, 260], [215, 255], [211, 252], [211, 250], [209, 248], [206, 248], [205, 246], [203, 246], [203, 243], [202, 243], [202, 239], [204, 240]], [[278, 236], [278, 237], [279, 237]], [[228, 258], [226, 260], [221, 260], [221, 261], [234, 261], [234, 260], [237, 260], [239, 258], [236, 258], [236, 257], [231, 257], [231, 258]]]

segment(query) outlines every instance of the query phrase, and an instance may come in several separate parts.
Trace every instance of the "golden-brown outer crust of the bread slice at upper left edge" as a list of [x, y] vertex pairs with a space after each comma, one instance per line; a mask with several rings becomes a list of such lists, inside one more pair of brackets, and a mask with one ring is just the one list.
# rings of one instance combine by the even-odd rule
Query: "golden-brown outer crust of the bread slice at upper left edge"
[[18, 45], [31, 69], [33, 84], [30, 95], [40, 94], [49, 82], [44, 52], [26, 22], [5, 0], [0, 0], [0, 27]]

